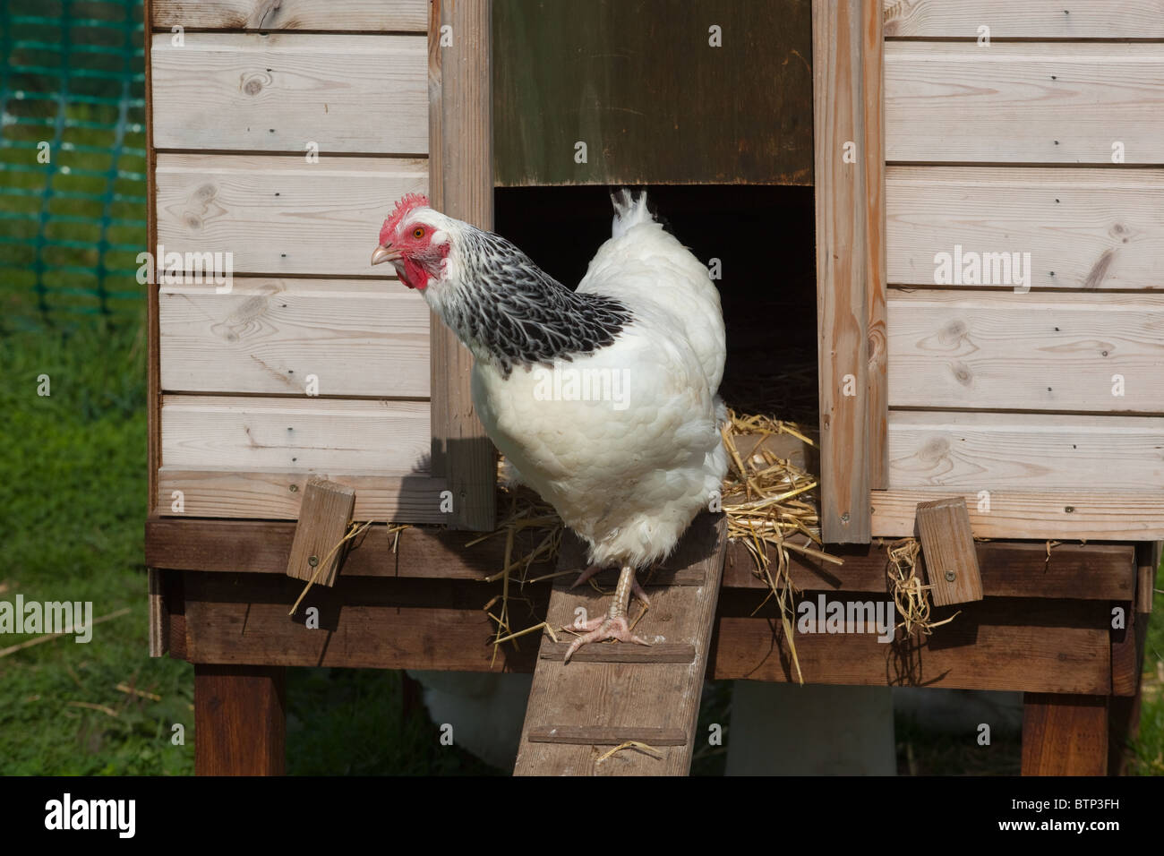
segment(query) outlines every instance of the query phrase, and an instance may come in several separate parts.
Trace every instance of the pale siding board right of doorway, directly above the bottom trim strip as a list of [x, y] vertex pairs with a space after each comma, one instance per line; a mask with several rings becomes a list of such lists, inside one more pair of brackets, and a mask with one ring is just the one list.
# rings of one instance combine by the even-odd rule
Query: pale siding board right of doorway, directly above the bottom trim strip
[[890, 410], [889, 487], [1161, 495], [1164, 417]]

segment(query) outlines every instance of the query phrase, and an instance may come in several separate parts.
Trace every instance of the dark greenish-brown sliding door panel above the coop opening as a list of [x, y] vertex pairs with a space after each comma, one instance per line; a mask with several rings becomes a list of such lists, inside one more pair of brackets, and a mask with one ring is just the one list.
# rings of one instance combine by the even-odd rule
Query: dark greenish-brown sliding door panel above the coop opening
[[492, 26], [501, 186], [812, 183], [810, 0], [495, 0]]

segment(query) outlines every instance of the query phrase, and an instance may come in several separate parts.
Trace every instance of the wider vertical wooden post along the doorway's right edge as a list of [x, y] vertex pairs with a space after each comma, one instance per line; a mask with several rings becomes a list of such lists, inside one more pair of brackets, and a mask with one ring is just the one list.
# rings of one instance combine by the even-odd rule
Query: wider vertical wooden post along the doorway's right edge
[[821, 529], [824, 540], [833, 544], [867, 544], [872, 528], [868, 201], [860, 149], [865, 143], [863, 7], [873, 1], [812, 0]]

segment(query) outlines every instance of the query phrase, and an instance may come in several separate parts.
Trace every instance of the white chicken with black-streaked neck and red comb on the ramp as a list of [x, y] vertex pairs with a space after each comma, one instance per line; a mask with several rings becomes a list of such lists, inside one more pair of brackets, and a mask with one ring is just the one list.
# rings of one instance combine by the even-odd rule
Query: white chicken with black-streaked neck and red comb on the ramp
[[409, 194], [371, 263], [392, 262], [475, 358], [473, 403], [520, 481], [618, 566], [609, 613], [566, 653], [604, 639], [648, 644], [626, 620], [634, 573], [665, 558], [718, 495], [728, 468], [716, 395], [725, 344], [719, 292], [648, 212], [612, 197], [612, 236], [576, 291], [499, 235]]

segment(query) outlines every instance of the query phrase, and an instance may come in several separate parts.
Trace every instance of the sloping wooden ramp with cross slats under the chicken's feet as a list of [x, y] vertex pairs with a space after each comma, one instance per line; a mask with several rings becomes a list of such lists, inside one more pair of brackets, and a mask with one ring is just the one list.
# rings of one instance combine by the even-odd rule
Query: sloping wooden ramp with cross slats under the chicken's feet
[[[542, 636], [533, 688], [526, 708], [517, 776], [686, 776], [691, 752], [708, 663], [708, 646], [719, 599], [728, 522], [722, 514], [702, 514], [683, 536], [672, 558], [639, 582], [651, 597], [651, 609], [634, 628], [647, 648], [617, 642], [585, 645], [569, 664], [562, 663], [569, 634], [560, 643]], [[582, 544], [570, 537], [562, 546], [560, 571], [585, 567]], [[613, 593], [616, 571], [596, 576]], [[575, 618], [602, 615], [610, 595], [589, 585], [569, 590], [574, 575], [559, 576], [549, 597], [547, 621], [555, 628]], [[634, 620], [641, 606], [631, 599]], [[625, 741], [654, 748], [656, 757], [624, 749], [598, 758]]]

